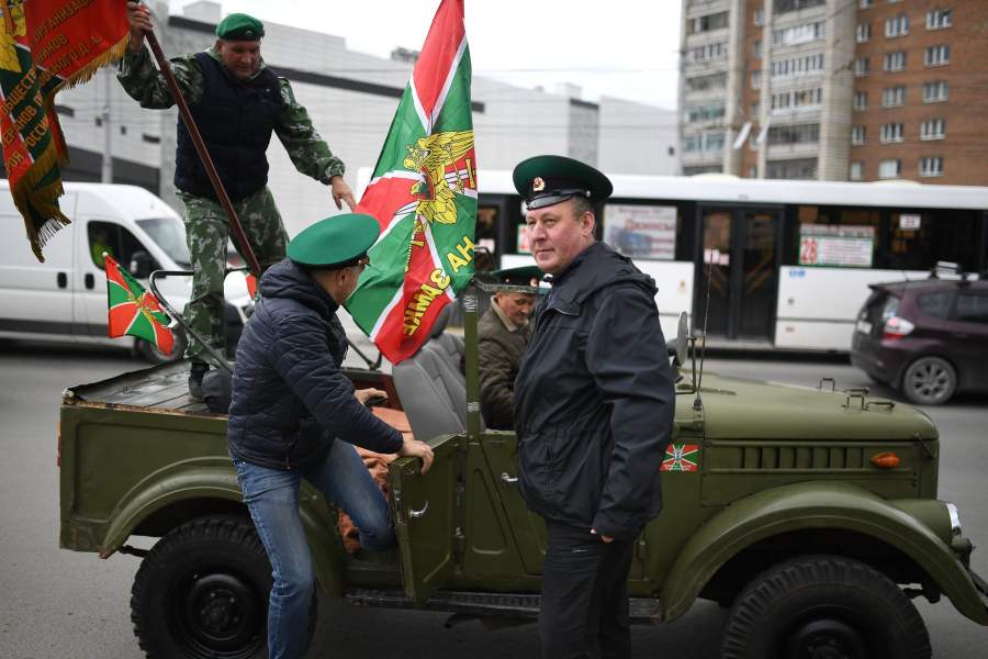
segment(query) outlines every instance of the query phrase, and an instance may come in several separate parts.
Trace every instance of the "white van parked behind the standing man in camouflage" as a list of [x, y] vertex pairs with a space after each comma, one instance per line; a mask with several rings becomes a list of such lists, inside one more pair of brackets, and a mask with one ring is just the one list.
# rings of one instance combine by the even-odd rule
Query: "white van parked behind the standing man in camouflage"
[[[181, 217], [144, 188], [103, 183], [65, 183], [61, 212], [72, 222], [43, 249], [38, 263], [14, 206], [7, 180], [0, 180], [0, 337], [97, 343], [133, 348], [157, 361], [164, 358], [143, 340], [106, 336], [106, 276], [102, 252], [110, 252], [147, 287], [157, 269], [189, 270], [189, 248]], [[106, 247], [109, 246], [109, 249]], [[191, 277], [159, 280], [159, 290], [179, 313], [192, 291]], [[233, 345], [250, 311], [239, 273], [226, 279], [227, 340]], [[181, 357], [177, 346], [172, 358]]]

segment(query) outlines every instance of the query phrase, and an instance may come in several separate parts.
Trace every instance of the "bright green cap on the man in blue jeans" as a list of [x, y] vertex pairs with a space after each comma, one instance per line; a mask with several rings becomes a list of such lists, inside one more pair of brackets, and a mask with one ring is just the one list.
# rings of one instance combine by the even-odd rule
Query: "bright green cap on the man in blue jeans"
[[344, 213], [319, 220], [292, 239], [288, 257], [300, 266], [332, 270], [367, 256], [381, 228], [373, 215]]

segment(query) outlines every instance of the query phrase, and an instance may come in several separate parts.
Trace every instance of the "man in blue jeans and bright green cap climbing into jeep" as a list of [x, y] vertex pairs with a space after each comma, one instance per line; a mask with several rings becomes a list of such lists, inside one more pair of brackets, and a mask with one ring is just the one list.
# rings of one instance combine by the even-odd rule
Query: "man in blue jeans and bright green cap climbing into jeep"
[[394, 541], [388, 502], [353, 444], [422, 458], [433, 450], [364, 406], [377, 389], [355, 391], [340, 372], [347, 337], [336, 317], [367, 266], [378, 238], [370, 215], [344, 214], [313, 224], [289, 245], [288, 258], [259, 282], [261, 299], [237, 346], [227, 443], [254, 525], [271, 561], [270, 659], [305, 652], [315, 587], [299, 515], [299, 487], [308, 480], [360, 529], [367, 551]]

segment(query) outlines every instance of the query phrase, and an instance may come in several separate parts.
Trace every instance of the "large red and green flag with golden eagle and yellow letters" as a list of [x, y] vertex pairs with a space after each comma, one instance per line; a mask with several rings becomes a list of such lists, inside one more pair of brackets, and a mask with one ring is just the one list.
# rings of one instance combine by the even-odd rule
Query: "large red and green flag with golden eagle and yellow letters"
[[378, 219], [347, 310], [397, 364], [473, 276], [476, 156], [463, 0], [442, 0], [357, 211]]

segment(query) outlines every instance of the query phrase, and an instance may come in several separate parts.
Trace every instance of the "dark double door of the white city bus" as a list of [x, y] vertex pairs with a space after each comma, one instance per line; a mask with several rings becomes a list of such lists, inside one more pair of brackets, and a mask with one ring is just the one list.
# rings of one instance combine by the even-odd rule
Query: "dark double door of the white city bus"
[[710, 279], [710, 336], [771, 342], [778, 288], [782, 209], [699, 206], [696, 326], [704, 327]]

